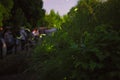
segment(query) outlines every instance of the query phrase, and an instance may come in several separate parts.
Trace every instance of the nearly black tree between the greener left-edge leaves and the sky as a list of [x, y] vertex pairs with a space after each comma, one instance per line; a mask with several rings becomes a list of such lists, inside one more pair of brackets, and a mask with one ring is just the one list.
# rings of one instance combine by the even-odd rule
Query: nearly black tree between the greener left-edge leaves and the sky
[[[27, 26], [27, 24], [34, 27], [41, 26], [45, 15], [42, 6], [42, 0], [14, 0], [9, 22], [12, 21], [13, 26]], [[39, 21], [41, 21], [41, 24], [37, 25], [40, 23]]]

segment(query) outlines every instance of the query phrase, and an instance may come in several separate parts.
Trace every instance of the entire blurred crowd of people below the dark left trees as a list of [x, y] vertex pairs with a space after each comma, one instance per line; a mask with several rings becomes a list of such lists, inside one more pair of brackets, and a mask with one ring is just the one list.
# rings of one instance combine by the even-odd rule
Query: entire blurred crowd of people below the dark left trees
[[27, 51], [34, 46], [43, 36], [55, 32], [55, 28], [35, 28], [32, 31], [25, 27], [13, 29], [13, 27], [0, 28], [0, 58], [10, 53], [18, 53], [21, 50]]

